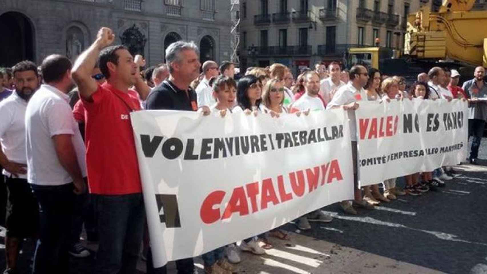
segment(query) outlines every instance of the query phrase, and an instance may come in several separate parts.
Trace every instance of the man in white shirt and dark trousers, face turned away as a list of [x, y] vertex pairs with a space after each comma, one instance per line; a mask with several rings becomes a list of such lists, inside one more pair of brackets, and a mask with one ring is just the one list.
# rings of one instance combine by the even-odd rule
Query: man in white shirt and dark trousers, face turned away
[[85, 192], [85, 146], [67, 95], [71, 67], [62, 55], [47, 56], [41, 64], [46, 84], [25, 111], [28, 181], [40, 206], [33, 274], [69, 273], [75, 195]]

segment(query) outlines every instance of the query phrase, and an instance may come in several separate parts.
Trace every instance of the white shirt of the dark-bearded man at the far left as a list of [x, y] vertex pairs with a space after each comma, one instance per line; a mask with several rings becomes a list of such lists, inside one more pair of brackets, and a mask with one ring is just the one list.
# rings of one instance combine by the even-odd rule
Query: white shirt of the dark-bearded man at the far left
[[[0, 143], [7, 159], [19, 164], [27, 164], [25, 158], [25, 109], [27, 102], [16, 91], [0, 103]], [[5, 169], [2, 174], [10, 177]], [[20, 179], [27, 179], [27, 174], [19, 174]]]

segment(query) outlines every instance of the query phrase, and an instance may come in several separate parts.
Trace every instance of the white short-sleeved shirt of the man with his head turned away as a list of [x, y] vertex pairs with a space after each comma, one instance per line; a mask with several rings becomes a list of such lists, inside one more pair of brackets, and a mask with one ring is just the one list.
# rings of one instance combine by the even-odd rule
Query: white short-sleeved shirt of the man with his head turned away
[[73, 135], [79, 168], [83, 177], [86, 176], [85, 145], [68, 100], [68, 95], [49, 85], [42, 85], [29, 100], [25, 111], [29, 183], [62, 185], [73, 182], [57, 158], [52, 137], [59, 134]]

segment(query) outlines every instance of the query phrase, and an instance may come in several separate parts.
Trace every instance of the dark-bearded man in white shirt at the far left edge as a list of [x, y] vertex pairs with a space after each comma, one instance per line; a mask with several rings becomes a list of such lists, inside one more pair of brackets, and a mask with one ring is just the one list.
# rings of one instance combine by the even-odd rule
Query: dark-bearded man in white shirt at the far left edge
[[22, 239], [37, 237], [39, 228], [39, 207], [27, 182], [24, 123], [27, 102], [39, 88], [37, 66], [21, 61], [14, 66], [13, 76], [15, 91], [0, 103], [0, 164], [8, 189], [4, 272], [8, 274], [17, 273]]

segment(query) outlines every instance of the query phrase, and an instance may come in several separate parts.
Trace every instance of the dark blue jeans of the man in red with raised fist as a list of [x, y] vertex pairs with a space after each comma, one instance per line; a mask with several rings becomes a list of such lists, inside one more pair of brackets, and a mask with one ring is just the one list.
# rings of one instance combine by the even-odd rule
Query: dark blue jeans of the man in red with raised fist
[[136, 273], [146, 218], [142, 193], [93, 198], [99, 236], [94, 273]]

